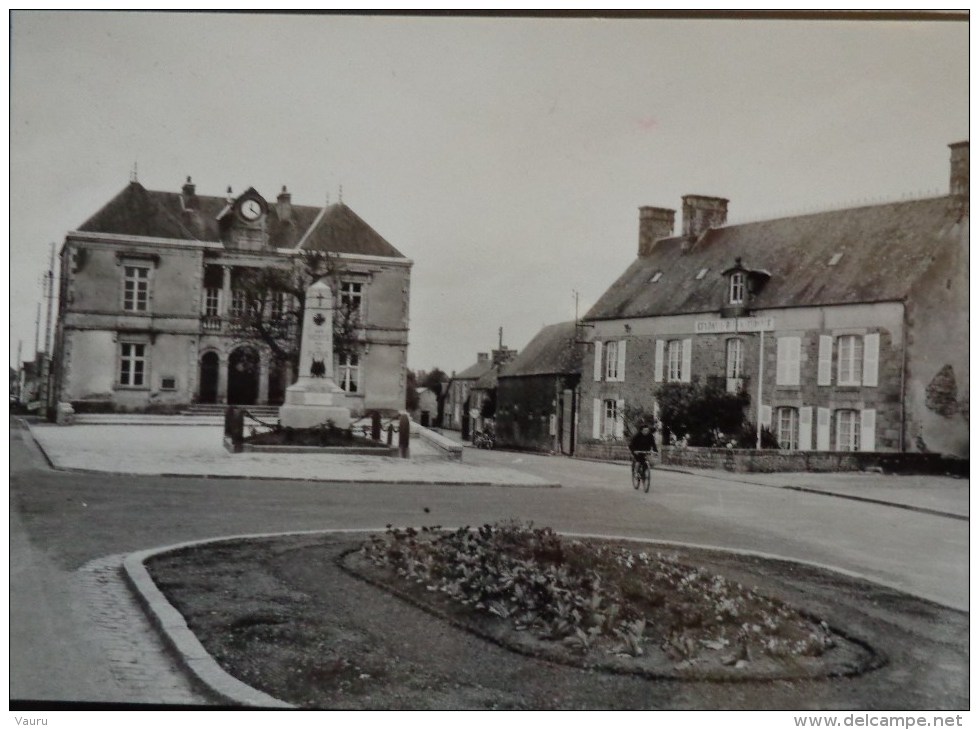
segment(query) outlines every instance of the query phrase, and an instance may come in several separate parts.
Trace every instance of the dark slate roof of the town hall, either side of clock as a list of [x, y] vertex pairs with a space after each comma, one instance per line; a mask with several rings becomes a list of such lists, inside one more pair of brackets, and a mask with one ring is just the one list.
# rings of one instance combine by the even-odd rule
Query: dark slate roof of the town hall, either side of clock
[[[196, 207], [192, 210], [187, 209], [187, 202], [181, 193], [147, 190], [140, 183], [131, 182], [78, 230], [220, 241], [218, 216], [229, 205], [227, 197], [195, 195]], [[404, 258], [343, 203], [326, 208], [293, 204], [290, 209], [290, 217], [282, 219], [275, 200], [268, 201], [266, 230], [269, 243], [275, 248], [295, 248], [305, 237], [303, 248]]]

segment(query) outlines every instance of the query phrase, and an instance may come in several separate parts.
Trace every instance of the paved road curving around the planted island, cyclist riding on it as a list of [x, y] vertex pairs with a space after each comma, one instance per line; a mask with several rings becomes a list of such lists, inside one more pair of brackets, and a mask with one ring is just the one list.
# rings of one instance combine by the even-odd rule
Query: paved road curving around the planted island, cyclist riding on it
[[[968, 605], [962, 520], [668, 472], [640, 494], [621, 465], [469, 451], [466, 458], [556, 477], [565, 487], [72, 474], [47, 469], [26, 432], [12, 429], [11, 697], [205, 701], [158, 647], [140, 642], [149, 632], [139, 611], [106, 591], [115, 589], [122, 554], [221, 535], [520, 518], [562, 531], [771, 553]], [[123, 638], [111, 643], [114, 634]]]

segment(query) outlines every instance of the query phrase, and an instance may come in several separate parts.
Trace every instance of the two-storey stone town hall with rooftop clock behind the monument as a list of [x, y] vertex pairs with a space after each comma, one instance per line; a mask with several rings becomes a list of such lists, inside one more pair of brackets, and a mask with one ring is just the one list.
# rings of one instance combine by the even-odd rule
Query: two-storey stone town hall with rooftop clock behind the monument
[[190, 178], [179, 192], [133, 181], [67, 234], [57, 399], [122, 410], [281, 403], [288, 368], [235, 332], [239, 279], [304, 250], [336, 255], [337, 296], [360, 315], [357, 352], [334, 363], [354, 410], [404, 408], [412, 262], [342, 202], [294, 205], [284, 186], [274, 202], [254, 189], [204, 196]]

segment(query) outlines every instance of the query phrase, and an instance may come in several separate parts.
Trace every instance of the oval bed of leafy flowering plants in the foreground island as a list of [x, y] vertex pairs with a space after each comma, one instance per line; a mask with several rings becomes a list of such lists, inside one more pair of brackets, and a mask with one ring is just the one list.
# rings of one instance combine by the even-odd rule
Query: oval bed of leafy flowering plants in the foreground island
[[718, 678], [825, 676], [872, 662], [825, 622], [739, 583], [548, 528], [389, 529], [361, 557], [414, 600], [560, 661]]

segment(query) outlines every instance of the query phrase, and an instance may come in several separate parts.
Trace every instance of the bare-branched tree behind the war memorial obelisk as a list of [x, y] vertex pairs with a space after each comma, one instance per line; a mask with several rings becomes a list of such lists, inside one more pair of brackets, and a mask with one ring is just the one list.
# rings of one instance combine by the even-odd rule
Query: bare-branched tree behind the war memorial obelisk
[[301, 251], [269, 266], [239, 269], [229, 314], [236, 336], [264, 343], [276, 360], [297, 372], [306, 290], [325, 278], [334, 294], [333, 352], [344, 357], [359, 353], [360, 302], [341, 296], [344, 271], [339, 257], [327, 251]]

